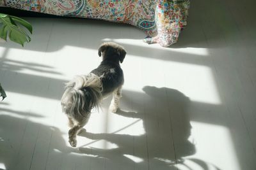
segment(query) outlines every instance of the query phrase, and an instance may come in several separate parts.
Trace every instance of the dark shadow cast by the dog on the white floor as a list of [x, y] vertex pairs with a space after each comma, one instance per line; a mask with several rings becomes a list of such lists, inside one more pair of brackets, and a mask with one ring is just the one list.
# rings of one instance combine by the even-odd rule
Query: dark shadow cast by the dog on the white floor
[[[144, 87], [145, 93], [123, 92], [122, 104], [131, 103], [136, 112], [118, 110], [117, 115], [139, 118], [143, 121], [145, 133], [130, 134], [83, 132], [80, 136], [104, 139], [117, 145], [113, 149], [79, 148], [82, 153], [95, 153], [115, 162], [136, 162], [138, 165], [175, 166], [182, 164], [182, 157], [193, 155], [195, 146], [188, 138], [191, 125], [187, 114], [189, 98], [178, 90]], [[134, 130], [136, 131], [136, 129]], [[125, 156], [126, 155], [126, 156]], [[132, 155], [133, 158], [127, 155]], [[135, 159], [134, 159], [135, 158]], [[153, 168], [154, 169], [154, 168]]]

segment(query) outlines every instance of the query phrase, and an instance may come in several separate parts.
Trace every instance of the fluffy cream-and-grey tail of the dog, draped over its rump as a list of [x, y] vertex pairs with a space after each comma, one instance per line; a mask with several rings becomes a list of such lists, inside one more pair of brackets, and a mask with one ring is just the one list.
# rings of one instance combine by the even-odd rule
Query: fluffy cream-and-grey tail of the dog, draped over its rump
[[61, 98], [62, 110], [71, 116], [79, 114], [86, 117], [92, 108], [98, 108], [102, 101], [101, 79], [102, 76], [90, 73], [76, 76], [68, 82]]

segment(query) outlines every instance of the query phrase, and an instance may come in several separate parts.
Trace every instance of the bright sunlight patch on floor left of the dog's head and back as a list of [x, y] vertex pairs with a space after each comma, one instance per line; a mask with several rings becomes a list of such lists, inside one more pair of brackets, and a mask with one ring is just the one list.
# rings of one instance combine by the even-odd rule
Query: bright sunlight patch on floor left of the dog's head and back
[[[68, 45], [49, 53], [27, 50], [26, 47], [0, 48], [0, 53], [8, 56], [1, 61], [3, 70], [63, 80], [90, 73], [102, 60], [97, 50]], [[61, 63], [56, 64], [56, 60], [61, 60]]]

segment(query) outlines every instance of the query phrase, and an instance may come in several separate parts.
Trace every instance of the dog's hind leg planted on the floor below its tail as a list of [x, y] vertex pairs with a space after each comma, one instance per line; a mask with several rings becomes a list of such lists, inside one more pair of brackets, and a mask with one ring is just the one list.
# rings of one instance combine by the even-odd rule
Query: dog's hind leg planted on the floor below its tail
[[79, 117], [79, 120], [77, 120], [77, 123], [74, 124], [74, 126], [68, 131], [68, 142], [72, 147], [76, 147], [77, 141], [76, 136], [79, 131], [86, 125], [88, 122], [88, 119], [90, 117], [90, 113], [88, 113], [87, 117]]

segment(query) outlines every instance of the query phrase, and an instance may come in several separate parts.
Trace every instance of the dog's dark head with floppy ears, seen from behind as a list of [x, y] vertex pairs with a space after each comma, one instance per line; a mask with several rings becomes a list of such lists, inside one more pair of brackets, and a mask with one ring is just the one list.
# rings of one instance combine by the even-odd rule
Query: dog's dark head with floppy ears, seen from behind
[[116, 43], [108, 42], [102, 43], [98, 52], [99, 56], [102, 55], [102, 60], [111, 60], [114, 62], [123, 62], [126, 55], [126, 51], [123, 46]]

